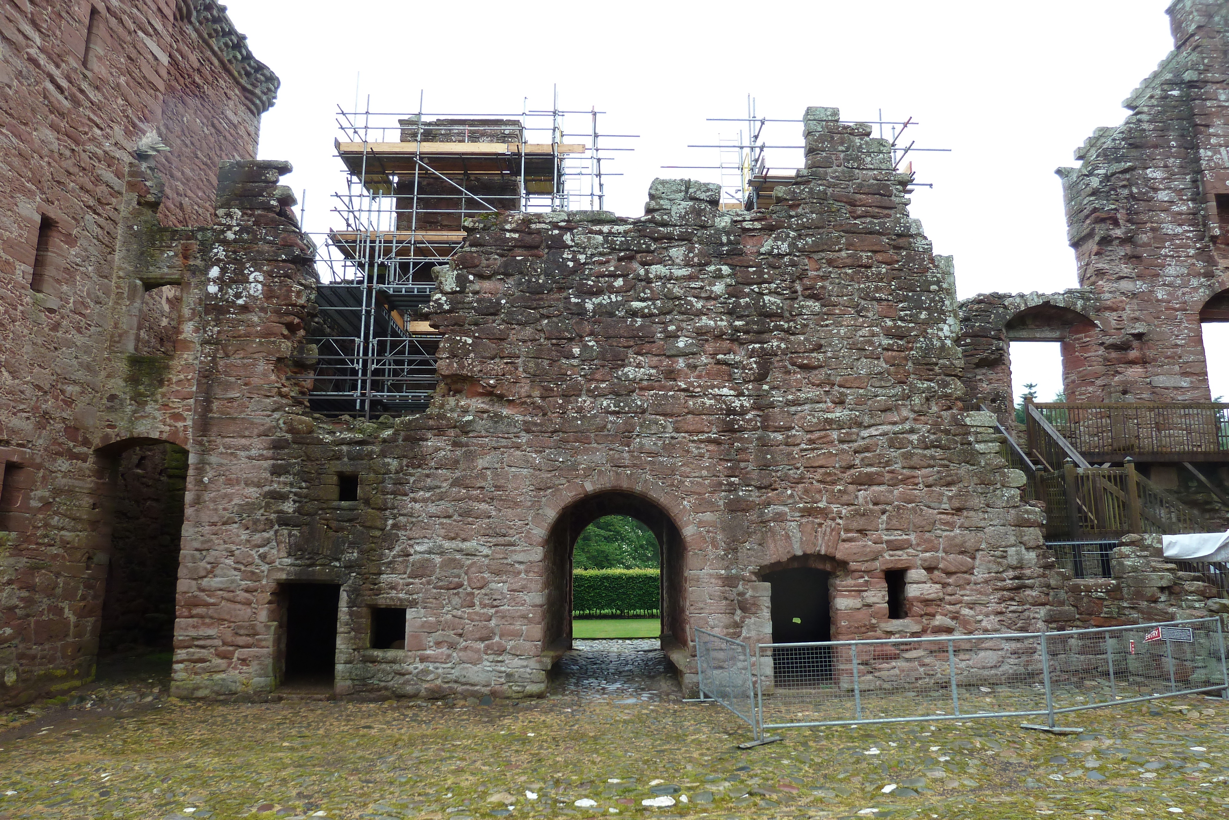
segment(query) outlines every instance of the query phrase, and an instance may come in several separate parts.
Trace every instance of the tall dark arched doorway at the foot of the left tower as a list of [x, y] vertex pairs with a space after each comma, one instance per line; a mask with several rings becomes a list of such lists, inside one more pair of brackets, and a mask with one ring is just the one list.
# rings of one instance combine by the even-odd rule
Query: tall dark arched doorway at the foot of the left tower
[[98, 455], [111, 467], [100, 674], [109, 666], [122, 676], [166, 676], [175, 639], [188, 451], [171, 441], [127, 439]]

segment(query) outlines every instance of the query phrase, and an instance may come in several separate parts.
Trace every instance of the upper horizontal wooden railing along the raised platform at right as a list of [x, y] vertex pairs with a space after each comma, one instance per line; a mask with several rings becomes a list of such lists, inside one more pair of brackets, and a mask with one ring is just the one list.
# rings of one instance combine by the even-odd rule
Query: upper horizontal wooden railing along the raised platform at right
[[[1031, 402], [1030, 402], [1031, 403]], [[1045, 420], [1088, 461], [1229, 461], [1229, 403], [1031, 403], [1027, 447], [1057, 468], [1067, 454], [1046, 435]], [[1037, 418], [1040, 417], [1040, 418]], [[1051, 461], [1057, 459], [1057, 461]]]

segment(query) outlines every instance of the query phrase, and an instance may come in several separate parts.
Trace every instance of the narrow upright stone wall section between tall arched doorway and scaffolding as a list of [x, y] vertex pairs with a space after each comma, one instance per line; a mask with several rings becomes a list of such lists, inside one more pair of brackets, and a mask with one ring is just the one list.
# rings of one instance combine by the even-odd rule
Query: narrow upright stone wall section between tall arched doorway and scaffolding
[[[289, 162], [222, 165], [216, 224], [198, 231], [202, 302], [172, 686], [236, 695], [273, 685], [275, 561], [296, 465], [278, 419], [305, 404], [304, 326], [313, 313], [313, 248], [278, 184]], [[283, 534], [284, 535], [284, 534]], [[284, 541], [284, 537], [283, 537]]]

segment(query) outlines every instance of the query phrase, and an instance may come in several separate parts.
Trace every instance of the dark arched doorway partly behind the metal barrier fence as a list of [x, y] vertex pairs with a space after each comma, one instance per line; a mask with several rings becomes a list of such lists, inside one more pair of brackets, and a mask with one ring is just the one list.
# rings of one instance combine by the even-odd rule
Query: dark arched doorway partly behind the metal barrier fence
[[[832, 639], [830, 574], [799, 567], [764, 573], [772, 585], [773, 643], [814, 643]], [[803, 686], [832, 680], [831, 647], [773, 649], [773, 680], [778, 686]]]

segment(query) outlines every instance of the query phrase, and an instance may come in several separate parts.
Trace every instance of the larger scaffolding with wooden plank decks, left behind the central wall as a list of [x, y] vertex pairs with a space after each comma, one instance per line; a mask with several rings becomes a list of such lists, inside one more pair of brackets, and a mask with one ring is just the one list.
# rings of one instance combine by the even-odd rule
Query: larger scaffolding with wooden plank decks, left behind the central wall
[[[606, 155], [630, 149], [601, 145], [600, 113], [563, 111], [558, 96], [549, 111], [520, 114], [338, 109], [345, 183], [333, 194], [337, 226], [317, 241], [312, 409], [425, 409], [440, 342], [426, 321], [433, 269], [461, 248], [467, 218], [601, 210]], [[578, 119], [583, 130], [569, 130]]]

